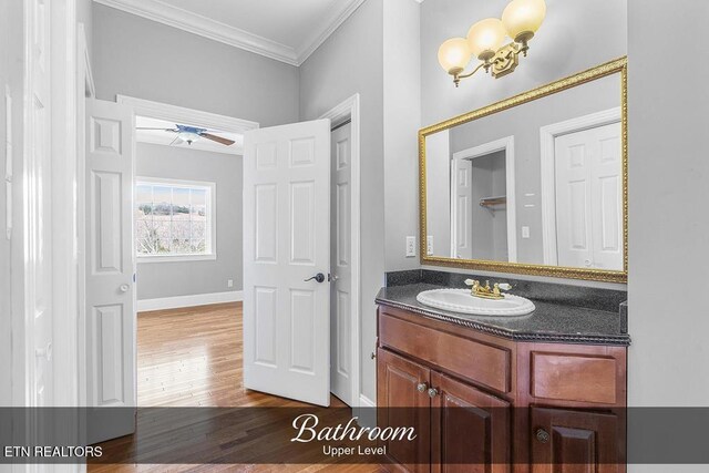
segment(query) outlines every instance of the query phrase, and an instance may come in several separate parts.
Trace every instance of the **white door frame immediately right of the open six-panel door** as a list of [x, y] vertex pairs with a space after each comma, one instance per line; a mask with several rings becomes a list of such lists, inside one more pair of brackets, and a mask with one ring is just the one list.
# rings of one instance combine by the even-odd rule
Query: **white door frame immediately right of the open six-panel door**
[[361, 270], [360, 270], [360, 97], [354, 94], [345, 100], [330, 111], [323, 113], [319, 119], [329, 119], [333, 126], [346, 120], [351, 120], [351, 184], [352, 195], [350, 198], [351, 215], [351, 251], [352, 251], [352, 287], [351, 287], [351, 307], [352, 313], [352, 339], [351, 339], [351, 360], [352, 360], [352, 404], [351, 408], [360, 405], [369, 405], [367, 401], [362, 401], [361, 397], [361, 373], [360, 373], [360, 353], [361, 353], [361, 313], [360, 313], [360, 294], [361, 294]]

